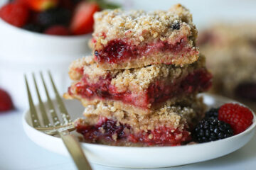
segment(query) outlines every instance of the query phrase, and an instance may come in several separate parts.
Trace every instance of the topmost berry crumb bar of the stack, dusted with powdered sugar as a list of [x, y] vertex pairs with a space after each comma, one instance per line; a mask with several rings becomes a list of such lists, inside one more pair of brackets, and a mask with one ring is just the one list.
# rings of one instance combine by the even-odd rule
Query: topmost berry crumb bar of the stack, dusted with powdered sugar
[[92, 50], [102, 69], [149, 64], [191, 64], [198, 60], [196, 27], [188, 9], [169, 11], [105, 10], [95, 13]]

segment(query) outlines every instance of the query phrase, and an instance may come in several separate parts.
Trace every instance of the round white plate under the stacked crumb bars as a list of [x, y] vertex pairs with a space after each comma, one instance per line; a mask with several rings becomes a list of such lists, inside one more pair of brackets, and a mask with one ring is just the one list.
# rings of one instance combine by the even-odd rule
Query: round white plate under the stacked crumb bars
[[[204, 103], [209, 108], [220, 106], [224, 103], [235, 102], [220, 96], [210, 94], [201, 95], [204, 98]], [[72, 114], [72, 118], [81, 117], [84, 108], [78, 101], [65, 101], [65, 106], [68, 108], [69, 113]], [[127, 168], [179, 166], [214, 159], [240, 149], [252, 139], [255, 133], [255, 125], [254, 115], [252, 125], [245, 132], [224, 140], [196, 145], [177, 147], [114, 147], [82, 142], [82, 149], [89, 161], [93, 164]], [[52, 152], [68, 155], [68, 151], [65, 149], [59, 137], [46, 135], [31, 126], [29, 111], [23, 114], [23, 128], [28, 137], [33, 142], [36, 142], [36, 144]]]

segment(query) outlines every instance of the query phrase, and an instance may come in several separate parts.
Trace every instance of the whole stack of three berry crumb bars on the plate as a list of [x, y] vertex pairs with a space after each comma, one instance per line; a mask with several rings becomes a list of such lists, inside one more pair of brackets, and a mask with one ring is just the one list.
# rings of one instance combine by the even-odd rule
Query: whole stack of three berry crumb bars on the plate
[[64, 95], [85, 106], [75, 126], [87, 142], [184, 145], [203, 116], [196, 95], [211, 86], [196, 47], [189, 11], [101, 11], [95, 14], [93, 56], [70, 65]]

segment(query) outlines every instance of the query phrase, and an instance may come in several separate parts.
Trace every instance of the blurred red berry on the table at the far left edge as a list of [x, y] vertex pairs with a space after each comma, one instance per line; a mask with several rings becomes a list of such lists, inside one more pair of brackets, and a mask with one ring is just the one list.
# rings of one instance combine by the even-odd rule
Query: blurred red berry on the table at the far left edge
[[14, 108], [14, 106], [11, 101], [11, 97], [6, 91], [4, 91], [3, 89], [0, 89], [0, 112], [9, 111], [12, 108]]

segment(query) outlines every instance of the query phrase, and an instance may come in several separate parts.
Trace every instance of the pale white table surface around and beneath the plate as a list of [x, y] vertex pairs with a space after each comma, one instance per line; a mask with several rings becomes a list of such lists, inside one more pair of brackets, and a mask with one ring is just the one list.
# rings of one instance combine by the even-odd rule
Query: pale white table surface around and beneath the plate
[[[43, 149], [28, 139], [21, 124], [22, 111], [0, 113], [0, 169], [72, 170], [76, 169], [70, 157], [63, 157]], [[200, 151], [198, 151], [200, 152]], [[191, 153], [193, 157], [193, 153]], [[122, 158], [120, 158], [122, 159]], [[159, 157], [161, 159], [161, 157]], [[93, 169], [120, 168], [92, 165]], [[255, 169], [256, 137], [232, 154], [207, 162], [166, 169]]]

